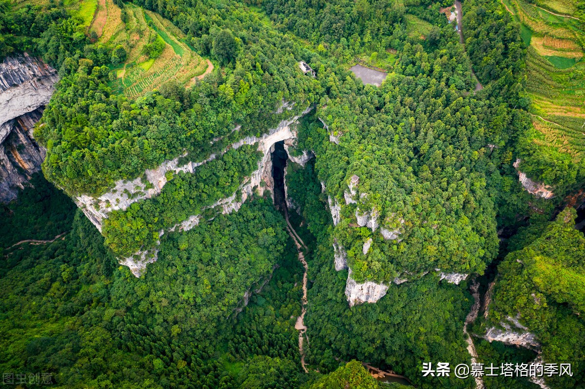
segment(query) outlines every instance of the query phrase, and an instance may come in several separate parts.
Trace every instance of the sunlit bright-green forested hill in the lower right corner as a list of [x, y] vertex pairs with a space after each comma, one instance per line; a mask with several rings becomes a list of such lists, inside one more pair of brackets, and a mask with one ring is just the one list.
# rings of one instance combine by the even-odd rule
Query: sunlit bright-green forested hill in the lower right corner
[[553, 222], [526, 229], [510, 243], [498, 266], [498, 281], [486, 326], [519, 314], [542, 342], [542, 357], [572, 363], [573, 377], [554, 377], [558, 387], [583, 383], [581, 318], [585, 282], [585, 237], [574, 229], [575, 211], [567, 208]]

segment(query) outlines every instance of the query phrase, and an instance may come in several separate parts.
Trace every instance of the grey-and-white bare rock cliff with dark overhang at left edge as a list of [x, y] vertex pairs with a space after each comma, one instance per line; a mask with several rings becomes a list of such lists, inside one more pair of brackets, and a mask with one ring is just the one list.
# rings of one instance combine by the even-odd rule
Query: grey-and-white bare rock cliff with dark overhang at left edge
[[59, 81], [39, 58], [17, 54], [0, 64], [0, 201], [16, 198], [19, 188], [40, 171], [45, 150], [33, 139], [35, 123]]

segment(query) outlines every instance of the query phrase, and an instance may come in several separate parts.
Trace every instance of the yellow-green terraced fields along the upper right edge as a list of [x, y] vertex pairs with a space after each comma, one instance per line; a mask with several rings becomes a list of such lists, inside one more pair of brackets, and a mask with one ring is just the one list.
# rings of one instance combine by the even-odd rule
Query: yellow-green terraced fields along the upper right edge
[[573, 3], [541, 0], [534, 5], [510, 0], [507, 4], [523, 32], [530, 35], [525, 43], [529, 43], [526, 92], [532, 100], [532, 141], [580, 161], [585, 156], [585, 32], [579, 20], [569, 17]]

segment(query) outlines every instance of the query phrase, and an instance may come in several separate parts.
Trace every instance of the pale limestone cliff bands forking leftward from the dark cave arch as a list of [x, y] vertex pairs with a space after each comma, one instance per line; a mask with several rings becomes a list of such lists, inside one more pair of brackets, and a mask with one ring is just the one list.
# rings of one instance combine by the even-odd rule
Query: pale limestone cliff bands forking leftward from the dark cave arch
[[[207, 206], [204, 209], [216, 209], [217, 212], [221, 212], [222, 214], [229, 214], [238, 211], [242, 204], [252, 197], [254, 190], [260, 195], [263, 195], [265, 190], [271, 192], [274, 183], [272, 178], [270, 153], [271, 151], [274, 151], [274, 144], [280, 141], [285, 141], [288, 143], [288, 147], [292, 147], [294, 140], [297, 139], [295, 124], [302, 115], [305, 115], [309, 111], [311, 111], [311, 107], [305, 109], [301, 115], [280, 122], [276, 128], [270, 129], [269, 132], [263, 136], [245, 137], [238, 142], [231, 144], [228, 149], [238, 149], [238, 147], [242, 147], [244, 144], [257, 144], [259, 152], [262, 153], [262, 157], [258, 162], [258, 167], [252, 174], [250, 174], [250, 177], [245, 178], [238, 191], [229, 197], [219, 199], [214, 204]], [[140, 199], [151, 198], [160, 194], [162, 188], [167, 183], [167, 172], [178, 173], [183, 171], [193, 173], [197, 167], [216, 159], [226, 151], [227, 149], [221, 153], [209, 156], [205, 161], [197, 163], [190, 162], [182, 166], [178, 166], [178, 158], [165, 161], [159, 167], [146, 171], [146, 180], [150, 185], [143, 183], [140, 177], [130, 181], [121, 180], [116, 183], [115, 188], [98, 198], [81, 195], [75, 199], [75, 202], [82, 209], [88, 219], [90, 219], [90, 221], [101, 231], [102, 222], [104, 219], [108, 218], [108, 215], [113, 210], [126, 209], [130, 204], [133, 204]], [[302, 155], [310, 155], [310, 153], [305, 152]], [[300, 161], [302, 161], [302, 159], [300, 159]], [[306, 162], [307, 160], [304, 161], [304, 163]], [[260, 185], [260, 183], [264, 183], [264, 185]], [[147, 187], [150, 188], [147, 189]], [[200, 219], [201, 215], [191, 215], [187, 220], [178, 223], [168, 230], [161, 230], [159, 236], [164, 235], [165, 232], [175, 230], [190, 230], [198, 225]], [[128, 266], [130, 271], [132, 271], [132, 274], [136, 277], [140, 277], [144, 273], [144, 270], [146, 270], [146, 265], [157, 260], [157, 254], [158, 249], [156, 247], [147, 247], [132, 256], [120, 259], [120, 263], [124, 266]]]

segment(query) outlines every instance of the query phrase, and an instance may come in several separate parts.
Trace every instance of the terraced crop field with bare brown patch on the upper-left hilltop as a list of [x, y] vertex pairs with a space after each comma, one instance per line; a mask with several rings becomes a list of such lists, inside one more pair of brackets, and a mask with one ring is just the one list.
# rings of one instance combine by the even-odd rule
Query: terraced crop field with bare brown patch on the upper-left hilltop
[[[112, 86], [128, 98], [135, 99], [170, 80], [189, 84], [208, 67], [184, 42], [183, 33], [157, 13], [132, 4], [120, 9], [112, 0], [99, 0], [97, 15], [91, 30], [99, 42], [126, 50], [125, 63], [113, 69], [118, 79]], [[160, 56], [150, 58], [144, 47], [155, 40], [164, 42], [164, 49]]]

